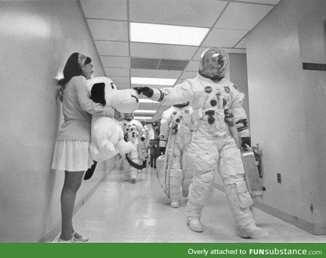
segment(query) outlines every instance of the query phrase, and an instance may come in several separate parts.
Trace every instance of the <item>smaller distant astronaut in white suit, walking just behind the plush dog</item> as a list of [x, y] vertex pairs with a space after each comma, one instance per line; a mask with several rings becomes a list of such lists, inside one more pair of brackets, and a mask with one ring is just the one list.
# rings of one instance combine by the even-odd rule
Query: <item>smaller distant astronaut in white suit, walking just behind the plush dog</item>
[[[132, 162], [140, 164], [143, 162], [144, 157], [140, 156], [139, 139], [145, 141], [146, 131], [141, 122], [133, 118], [133, 113], [124, 113], [124, 117], [120, 122], [123, 128], [123, 133], [126, 141], [132, 142], [135, 150], [128, 153], [128, 157]], [[125, 157], [122, 157], [123, 169], [125, 173], [125, 181], [135, 183], [137, 180], [138, 169], [130, 166]]]

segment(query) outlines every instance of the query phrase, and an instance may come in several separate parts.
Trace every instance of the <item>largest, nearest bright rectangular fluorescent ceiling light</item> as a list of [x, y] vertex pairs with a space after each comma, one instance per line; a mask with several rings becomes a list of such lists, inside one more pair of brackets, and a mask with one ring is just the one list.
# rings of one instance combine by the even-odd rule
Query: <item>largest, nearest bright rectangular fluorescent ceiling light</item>
[[199, 46], [208, 28], [130, 22], [130, 40]]

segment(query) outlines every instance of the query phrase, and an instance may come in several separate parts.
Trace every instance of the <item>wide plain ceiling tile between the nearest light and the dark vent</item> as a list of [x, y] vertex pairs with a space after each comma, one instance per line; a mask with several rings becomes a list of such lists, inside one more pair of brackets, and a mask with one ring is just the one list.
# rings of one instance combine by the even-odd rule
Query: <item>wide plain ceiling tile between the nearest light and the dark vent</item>
[[131, 56], [191, 60], [197, 47], [149, 43], [130, 43]]

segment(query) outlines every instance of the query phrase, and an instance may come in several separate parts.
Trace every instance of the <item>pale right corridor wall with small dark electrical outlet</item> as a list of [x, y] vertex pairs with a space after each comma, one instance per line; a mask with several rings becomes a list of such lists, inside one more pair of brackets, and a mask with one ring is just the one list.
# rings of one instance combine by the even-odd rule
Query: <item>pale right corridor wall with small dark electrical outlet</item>
[[246, 37], [267, 189], [257, 207], [312, 234], [326, 234], [326, 73], [303, 63], [326, 64], [325, 10], [324, 0], [282, 0]]

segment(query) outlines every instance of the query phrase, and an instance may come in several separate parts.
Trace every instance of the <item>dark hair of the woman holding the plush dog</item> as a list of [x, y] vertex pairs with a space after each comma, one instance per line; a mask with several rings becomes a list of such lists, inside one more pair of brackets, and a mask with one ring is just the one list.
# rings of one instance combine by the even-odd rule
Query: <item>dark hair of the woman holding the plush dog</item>
[[[67, 60], [65, 68], [63, 69], [63, 77], [59, 80], [59, 85], [62, 87], [73, 77], [83, 75], [82, 67], [78, 63], [78, 52], [71, 54]], [[87, 56], [84, 65], [92, 62], [92, 59]]]

